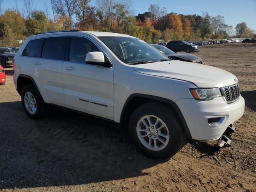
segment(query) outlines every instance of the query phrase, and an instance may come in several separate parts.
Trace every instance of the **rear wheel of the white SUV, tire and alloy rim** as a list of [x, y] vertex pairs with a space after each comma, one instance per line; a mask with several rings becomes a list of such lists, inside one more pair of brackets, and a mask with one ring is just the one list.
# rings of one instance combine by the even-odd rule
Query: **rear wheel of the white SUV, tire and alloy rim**
[[22, 89], [21, 101], [26, 114], [30, 118], [41, 119], [46, 116], [46, 104], [34, 85], [29, 84]]

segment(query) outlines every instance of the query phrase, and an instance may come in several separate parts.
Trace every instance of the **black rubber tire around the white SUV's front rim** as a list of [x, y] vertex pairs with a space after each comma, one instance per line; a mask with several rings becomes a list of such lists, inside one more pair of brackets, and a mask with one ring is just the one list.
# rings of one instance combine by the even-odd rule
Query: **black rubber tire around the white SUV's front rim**
[[[169, 131], [169, 141], [162, 150], [154, 151], [146, 148], [137, 135], [137, 124], [146, 115], [157, 116], [166, 124]], [[150, 158], [168, 159], [174, 156], [185, 144], [187, 140], [186, 132], [176, 115], [176, 113], [163, 104], [149, 102], [139, 106], [130, 117], [129, 133], [136, 148]]]

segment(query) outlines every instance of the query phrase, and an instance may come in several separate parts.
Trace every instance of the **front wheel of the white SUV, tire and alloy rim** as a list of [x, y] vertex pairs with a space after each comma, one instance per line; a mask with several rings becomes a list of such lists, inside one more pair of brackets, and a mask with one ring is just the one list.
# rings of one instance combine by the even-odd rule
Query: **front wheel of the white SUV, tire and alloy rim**
[[176, 114], [158, 103], [139, 106], [130, 118], [129, 131], [138, 150], [151, 158], [170, 158], [186, 144], [186, 133]]

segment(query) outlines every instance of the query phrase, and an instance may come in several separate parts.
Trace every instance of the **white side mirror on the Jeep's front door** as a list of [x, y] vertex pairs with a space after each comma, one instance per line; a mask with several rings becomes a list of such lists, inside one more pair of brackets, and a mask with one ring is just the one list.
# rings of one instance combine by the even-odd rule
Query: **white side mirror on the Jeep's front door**
[[110, 68], [112, 65], [102, 52], [94, 51], [86, 54], [85, 62]]

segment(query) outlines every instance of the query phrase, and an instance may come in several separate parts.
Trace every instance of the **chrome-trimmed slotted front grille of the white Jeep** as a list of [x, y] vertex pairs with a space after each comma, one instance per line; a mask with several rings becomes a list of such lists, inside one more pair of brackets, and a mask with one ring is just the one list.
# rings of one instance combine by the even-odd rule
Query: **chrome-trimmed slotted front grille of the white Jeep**
[[225, 96], [228, 104], [236, 101], [240, 96], [240, 89], [238, 84], [222, 87], [220, 90], [222, 91], [222, 95]]

